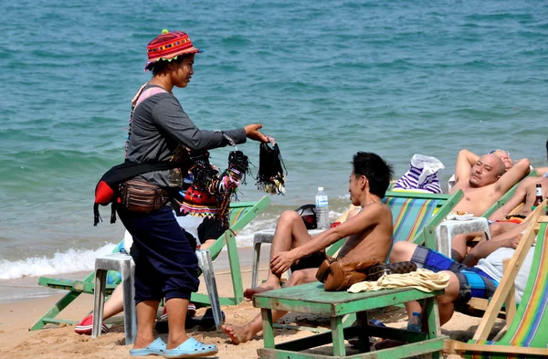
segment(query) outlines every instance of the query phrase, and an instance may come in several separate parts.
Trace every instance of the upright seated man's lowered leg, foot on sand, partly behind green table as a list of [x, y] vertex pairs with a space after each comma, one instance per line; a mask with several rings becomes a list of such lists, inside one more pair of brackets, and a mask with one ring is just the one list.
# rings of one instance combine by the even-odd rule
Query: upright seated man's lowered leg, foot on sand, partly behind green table
[[[316, 280], [317, 268], [300, 269], [293, 274], [287, 283], [287, 287], [292, 287], [299, 284], [310, 283]], [[287, 311], [272, 311], [272, 322], [278, 322]], [[223, 331], [232, 340], [232, 343], [246, 343], [253, 339], [258, 332], [262, 331], [262, 318], [260, 314], [256, 316], [251, 322], [248, 322], [243, 326], [223, 325]]]

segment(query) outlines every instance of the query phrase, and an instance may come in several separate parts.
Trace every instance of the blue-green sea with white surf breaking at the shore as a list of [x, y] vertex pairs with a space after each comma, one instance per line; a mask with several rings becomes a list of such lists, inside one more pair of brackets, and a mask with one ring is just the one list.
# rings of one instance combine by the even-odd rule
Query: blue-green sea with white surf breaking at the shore
[[[287, 195], [238, 236], [330, 194], [349, 206], [353, 153], [406, 172], [414, 153], [510, 151], [545, 164], [548, 5], [514, 1], [5, 2], [0, 14], [0, 280], [89, 270], [123, 235], [92, 226], [94, 186], [123, 161], [145, 48], [186, 31], [195, 58], [184, 110], [204, 129], [263, 123]], [[257, 173], [258, 143], [238, 145]], [[231, 149], [212, 152], [224, 169]], [[257, 200], [253, 176], [240, 200]], [[109, 218], [110, 208], [101, 214]]]

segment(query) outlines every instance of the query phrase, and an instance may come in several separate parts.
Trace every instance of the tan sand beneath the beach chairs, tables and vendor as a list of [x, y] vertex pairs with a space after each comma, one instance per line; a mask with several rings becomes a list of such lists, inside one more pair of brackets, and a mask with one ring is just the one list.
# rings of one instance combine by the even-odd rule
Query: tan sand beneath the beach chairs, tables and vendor
[[[261, 253], [261, 271], [259, 279], [266, 277], [266, 265], [268, 263], [269, 248], [265, 246]], [[240, 250], [242, 259], [242, 270], [244, 284], [250, 282], [250, 248]], [[229, 294], [231, 284], [227, 273], [226, 254], [222, 254], [216, 260], [216, 280], [219, 293]], [[66, 276], [65, 276], [66, 277]], [[26, 279], [30, 282], [36, 279]], [[37, 284], [36, 284], [37, 286]], [[3, 291], [6, 287], [0, 287]], [[32, 286], [26, 290], [32, 292]], [[205, 292], [201, 287], [200, 291]], [[49, 309], [62, 294], [56, 294], [45, 298], [34, 298], [26, 301], [16, 301], [5, 303], [0, 306], [0, 355], [5, 358], [125, 358], [129, 357], [131, 345], [125, 345], [123, 334], [123, 319], [116, 316], [107, 321], [111, 324], [110, 333], [100, 336], [98, 339], [92, 339], [90, 336], [78, 335], [74, 333], [71, 325], [61, 327], [51, 327], [35, 332], [28, 332], [28, 328], [37, 321], [37, 319]], [[31, 296], [32, 298], [32, 296]], [[81, 295], [65, 311], [62, 311], [60, 317], [72, 321], [79, 321], [88, 314], [93, 307], [93, 298], [91, 295]], [[236, 325], [245, 324], [251, 320], [258, 310], [254, 309], [251, 302], [242, 302], [237, 306], [225, 306], [222, 308], [227, 315], [227, 322]], [[201, 316], [205, 309], [196, 312]], [[382, 311], [370, 311], [370, 317], [376, 318], [389, 326], [404, 327], [406, 325], [406, 312], [397, 307], [388, 307]], [[295, 323], [302, 326], [316, 327], [329, 326], [329, 319], [305, 314], [288, 314], [282, 319], [284, 323]], [[456, 313], [450, 322], [442, 328], [442, 333], [451, 338], [467, 340], [473, 335], [479, 318], [469, 317], [464, 314]], [[495, 325], [501, 328], [501, 323]], [[220, 332], [201, 332], [197, 328], [189, 331], [197, 340], [205, 343], [215, 343], [219, 347], [217, 358], [236, 359], [236, 358], [257, 358], [257, 349], [262, 347], [262, 336], [258, 336], [249, 343], [232, 345], [225, 333]], [[283, 343], [300, 337], [311, 335], [309, 331], [277, 330], [276, 343]], [[161, 334], [163, 339], [166, 334]], [[347, 345], [348, 354], [357, 354], [350, 345]], [[315, 348], [312, 353], [332, 355], [332, 347], [326, 345]], [[458, 355], [445, 355], [446, 358], [455, 359]]]

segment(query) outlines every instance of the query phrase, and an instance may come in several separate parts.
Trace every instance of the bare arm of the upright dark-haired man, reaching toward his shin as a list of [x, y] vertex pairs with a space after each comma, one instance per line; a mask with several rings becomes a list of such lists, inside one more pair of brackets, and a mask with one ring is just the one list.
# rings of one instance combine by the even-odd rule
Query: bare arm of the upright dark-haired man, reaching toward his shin
[[347, 219], [340, 226], [321, 232], [313, 240], [308, 241], [300, 247], [293, 248], [287, 252], [279, 252], [278, 255], [270, 260], [270, 268], [274, 273], [283, 273], [296, 260], [325, 249], [341, 238], [358, 234], [368, 227], [379, 224], [383, 214], [382, 208], [382, 204], [366, 206], [360, 213]]

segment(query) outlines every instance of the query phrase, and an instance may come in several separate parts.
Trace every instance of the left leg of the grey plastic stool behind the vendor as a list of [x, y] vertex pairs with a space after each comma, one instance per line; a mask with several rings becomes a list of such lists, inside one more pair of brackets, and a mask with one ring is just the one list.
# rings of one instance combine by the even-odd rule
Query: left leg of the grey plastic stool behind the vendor
[[135, 287], [134, 287], [135, 266], [129, 260], [122, 264], [121, 278], [123, 286], [123, 325], [125, 333], [125, 344], [129, 345], [135, 341], [137, 335], [137, 314], [135, 312]]

